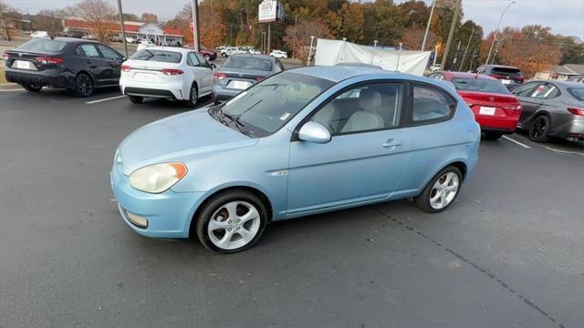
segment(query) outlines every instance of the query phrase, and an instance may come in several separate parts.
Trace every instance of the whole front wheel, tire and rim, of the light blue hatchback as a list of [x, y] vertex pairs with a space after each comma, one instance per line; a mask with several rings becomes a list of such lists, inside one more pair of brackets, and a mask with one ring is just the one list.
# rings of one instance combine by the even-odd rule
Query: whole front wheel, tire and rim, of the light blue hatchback
[[228, 190], [207, 202], [194, 218], [199, 241], [211, 251], [234, 253], [252, 247], [267, 224], [266, 205], [247, 190]]

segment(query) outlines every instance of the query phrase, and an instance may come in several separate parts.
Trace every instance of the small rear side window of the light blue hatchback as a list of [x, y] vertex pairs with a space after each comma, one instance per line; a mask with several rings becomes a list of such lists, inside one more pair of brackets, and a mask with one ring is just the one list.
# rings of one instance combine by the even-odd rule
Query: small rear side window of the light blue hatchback
[[443, 91], [423, 86], [414, 86], [412, 91], [412, 122], [414, 124], [443, 121], [454, 115], [454, 99]]

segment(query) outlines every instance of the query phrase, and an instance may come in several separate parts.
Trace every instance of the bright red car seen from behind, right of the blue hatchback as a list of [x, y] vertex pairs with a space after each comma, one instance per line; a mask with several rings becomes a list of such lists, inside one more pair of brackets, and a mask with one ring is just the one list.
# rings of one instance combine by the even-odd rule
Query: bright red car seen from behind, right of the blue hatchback
[[450, 81], [473, 110], [486, 139], [495, 140], [515, 132], [521, 116], [517, 97], [494, 77], [474, 73], [438, 71], [429, 77]]

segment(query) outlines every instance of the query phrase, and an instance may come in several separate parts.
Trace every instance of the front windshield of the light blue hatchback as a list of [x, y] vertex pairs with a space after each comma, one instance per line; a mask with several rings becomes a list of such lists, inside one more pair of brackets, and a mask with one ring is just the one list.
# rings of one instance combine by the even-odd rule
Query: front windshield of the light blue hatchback
[[[249, 137], [266, 137], [282, 128], [310, 101], [333, 85], [334, 82], [328, 79], [284, 72], [266, 78], [220, 107], [214, 107], [227, 118], [214, 115], [214, 108], [209, 113]], [[237, 124], [229, 124], [233, 121]]]

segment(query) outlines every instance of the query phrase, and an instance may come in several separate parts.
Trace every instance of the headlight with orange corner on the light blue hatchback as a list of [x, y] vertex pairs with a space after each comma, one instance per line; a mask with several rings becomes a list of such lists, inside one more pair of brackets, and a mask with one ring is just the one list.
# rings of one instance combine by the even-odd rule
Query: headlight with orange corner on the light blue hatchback
[[183, 163], [154, 164], [133, 171], [130, 186], [145, 192], [161, 193], [183, 179], [186, 171]]

